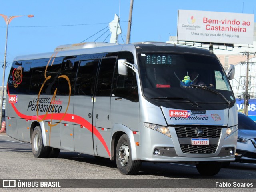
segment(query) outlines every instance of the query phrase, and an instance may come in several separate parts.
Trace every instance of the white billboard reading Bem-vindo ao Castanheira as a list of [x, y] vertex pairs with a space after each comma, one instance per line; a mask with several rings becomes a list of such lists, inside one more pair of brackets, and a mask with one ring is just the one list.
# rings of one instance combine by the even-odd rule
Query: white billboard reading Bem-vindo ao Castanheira
[[178, 41], [252, 44], [254, 14], [178, 10]]

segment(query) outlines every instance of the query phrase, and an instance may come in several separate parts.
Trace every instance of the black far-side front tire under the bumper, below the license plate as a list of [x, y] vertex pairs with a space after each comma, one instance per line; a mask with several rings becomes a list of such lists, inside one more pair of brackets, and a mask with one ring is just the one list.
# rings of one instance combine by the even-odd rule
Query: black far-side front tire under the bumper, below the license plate
[[196, 169], [201, 175], [211, 176], [218, 174], [218, 172], [220, 172], [221, 166], [222, 162], [206, 161], [196, 164]]

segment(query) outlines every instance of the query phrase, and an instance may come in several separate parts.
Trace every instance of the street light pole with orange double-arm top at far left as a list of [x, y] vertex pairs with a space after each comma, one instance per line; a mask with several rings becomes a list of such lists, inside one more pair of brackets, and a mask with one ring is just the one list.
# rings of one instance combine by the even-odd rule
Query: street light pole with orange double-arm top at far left
[[16, 18], [16, 17], [34, 17], [34, 15], [17, 15], [17, 16], [6, 16], [3, 14], [0, 14], [0, 16], [2, 16], [6, 22], [6, 39], [5, 39], [5, 51], [4, 51], [4, 65], [3, 65], [3, 81], [2, 81], [2, 93], [1, 93], [1, 103], [0, 103], [0, 122], [2, 122], [2, 114], [3, 114], [3, 102], [4, 102], [4, 78], [5, 78], [5, 68], [6, 68], [6, 52], [7, 52], [7, 38], [8, 38], [8, 26], [10, 24], [10, 22]]

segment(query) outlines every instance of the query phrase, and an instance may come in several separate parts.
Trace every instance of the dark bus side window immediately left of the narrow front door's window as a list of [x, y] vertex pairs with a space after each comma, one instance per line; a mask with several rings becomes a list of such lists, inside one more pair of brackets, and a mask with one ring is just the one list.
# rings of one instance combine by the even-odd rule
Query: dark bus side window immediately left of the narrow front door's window
[[94, 95], [99, 60], [82, 60], [76, 76], [75, 95]]

